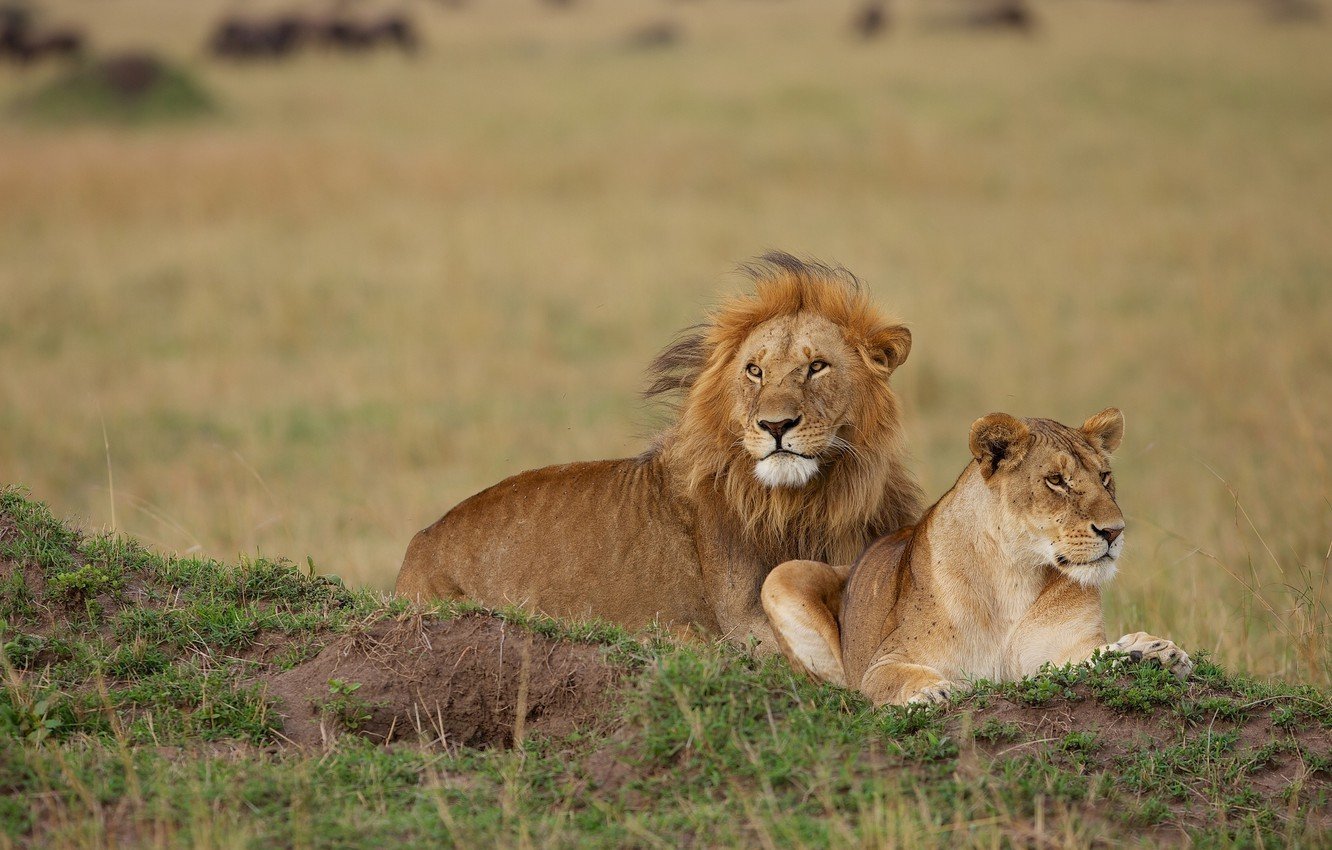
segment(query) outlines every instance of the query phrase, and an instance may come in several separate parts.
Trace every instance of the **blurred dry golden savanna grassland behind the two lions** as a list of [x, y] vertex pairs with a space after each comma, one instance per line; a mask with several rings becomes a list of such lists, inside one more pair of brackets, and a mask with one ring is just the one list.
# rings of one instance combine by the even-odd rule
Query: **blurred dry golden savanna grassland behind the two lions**
[[389, 589], [470, 493], [637, 453], [778, 248], [910, 322], [931, 496], [978, 416], [1120, 406], [1110, 629], [1332, 682], [1312, 0], [7, 8], [77, 41], [0, 59], [0, 481], [59, 514]]

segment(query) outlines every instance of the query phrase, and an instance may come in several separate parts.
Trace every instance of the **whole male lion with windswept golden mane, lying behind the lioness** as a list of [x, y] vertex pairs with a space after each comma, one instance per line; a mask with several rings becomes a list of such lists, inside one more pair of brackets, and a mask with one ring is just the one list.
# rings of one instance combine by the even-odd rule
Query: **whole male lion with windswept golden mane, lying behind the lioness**
[[763, 577], [790, 558], [848, 561], [919, 516], [888, 376], [911, 333], [840, 268], [770, 253], [653, 362], [647, 397], [682, 394], [639, 457], [525, 472], [408, 546], [397, 592], [653, 621], [777, 651]]

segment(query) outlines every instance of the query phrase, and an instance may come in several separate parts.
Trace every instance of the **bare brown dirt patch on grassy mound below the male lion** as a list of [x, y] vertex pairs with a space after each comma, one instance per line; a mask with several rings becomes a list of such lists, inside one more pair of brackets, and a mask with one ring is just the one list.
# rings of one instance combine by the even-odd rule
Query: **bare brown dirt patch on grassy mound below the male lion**
[[318, 745], [372, 741], [509, 746], [606, 715], [618, 674], [599, 647], [531, 634], [496, 617], [380, 621], [266, 677], [282, 734]]

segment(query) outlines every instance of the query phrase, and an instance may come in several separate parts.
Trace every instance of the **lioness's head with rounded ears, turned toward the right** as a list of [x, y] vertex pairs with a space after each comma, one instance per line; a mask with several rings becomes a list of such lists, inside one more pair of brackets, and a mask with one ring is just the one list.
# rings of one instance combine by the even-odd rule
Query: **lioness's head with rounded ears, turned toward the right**
[[998, 496], [1000, 537], [1014, 554], [1050, 564], [1084, 585], [1115, 576], [1124, 514], [1110, 453], [1124, 418], [1111, 408], [1074, 429], [994, 413], [972, 425], [971, 449]]

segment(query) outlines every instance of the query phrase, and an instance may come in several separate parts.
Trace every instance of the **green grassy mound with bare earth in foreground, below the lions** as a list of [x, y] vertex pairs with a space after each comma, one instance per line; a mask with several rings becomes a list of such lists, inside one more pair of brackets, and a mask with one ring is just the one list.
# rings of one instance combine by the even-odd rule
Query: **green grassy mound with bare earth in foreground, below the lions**
[[0, 847], [1325, 847], [1332, 823], [1332, 701], [1205, 658], [872, 710], [735, 647], [164, 558], [11, 489], [0, 669]]

